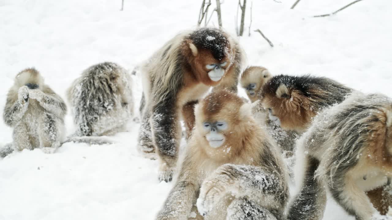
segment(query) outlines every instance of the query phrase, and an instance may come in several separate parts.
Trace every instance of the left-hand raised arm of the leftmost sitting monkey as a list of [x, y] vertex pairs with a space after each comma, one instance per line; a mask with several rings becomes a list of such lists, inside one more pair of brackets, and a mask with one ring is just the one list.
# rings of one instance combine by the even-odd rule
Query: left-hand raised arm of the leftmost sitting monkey
[[7, 102], [5, 103], [3, 113], [4, 123], [10, 127], [15, 127], [20, 119], [22, 119], [28, 106], [29, 92], [27, 87], [19, 88], [18, 94], [10, 91], [7, 94]]

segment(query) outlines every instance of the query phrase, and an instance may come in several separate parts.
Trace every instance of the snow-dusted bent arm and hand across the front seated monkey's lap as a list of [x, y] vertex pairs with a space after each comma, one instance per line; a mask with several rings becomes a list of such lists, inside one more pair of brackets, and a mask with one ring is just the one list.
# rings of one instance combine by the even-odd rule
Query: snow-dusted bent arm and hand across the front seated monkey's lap
[[283, 205], [287, 201], [287, 190], [284, 179], [262, 167], [224, 164], [201, 185], [197, 206], [205, 215], [230, 192], [236, 197], [249, 197], [279, 208], [282, 201]]

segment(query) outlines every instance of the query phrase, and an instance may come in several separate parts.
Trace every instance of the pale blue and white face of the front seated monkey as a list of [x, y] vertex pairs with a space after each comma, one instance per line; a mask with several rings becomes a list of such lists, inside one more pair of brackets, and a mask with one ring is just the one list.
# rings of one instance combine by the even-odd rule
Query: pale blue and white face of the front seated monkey
[[228, 129], [228, 124], [225, 121], [204, 122], [203, 130], [205, 132], [205, 139], [212, 148], [219, 148], [225, 142], [225, 135], [223, 131]]

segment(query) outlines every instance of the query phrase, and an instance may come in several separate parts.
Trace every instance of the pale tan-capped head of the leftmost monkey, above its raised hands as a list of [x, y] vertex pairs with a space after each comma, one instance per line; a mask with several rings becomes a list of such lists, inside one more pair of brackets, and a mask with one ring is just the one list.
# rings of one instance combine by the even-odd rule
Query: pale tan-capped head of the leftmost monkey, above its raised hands
[[27, 86], [29, 89], [39, 89], [44, 85], [44, 78], [34, 68], [22, 70], [15, 77], [15, 87]]

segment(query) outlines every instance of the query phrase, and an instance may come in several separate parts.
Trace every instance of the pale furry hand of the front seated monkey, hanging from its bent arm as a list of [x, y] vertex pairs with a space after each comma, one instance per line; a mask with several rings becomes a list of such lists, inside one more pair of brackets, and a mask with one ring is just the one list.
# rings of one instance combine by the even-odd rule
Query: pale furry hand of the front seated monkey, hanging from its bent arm
[[[229, 164], [227, 164], [229, 165]], [[211, 177], [201, 184], [200, 195], [196, 202], [200, 215], [207, 215], [223, 196], [227, 194], [234, 181], [225, 171], [225, 165], [218, 168]]]

